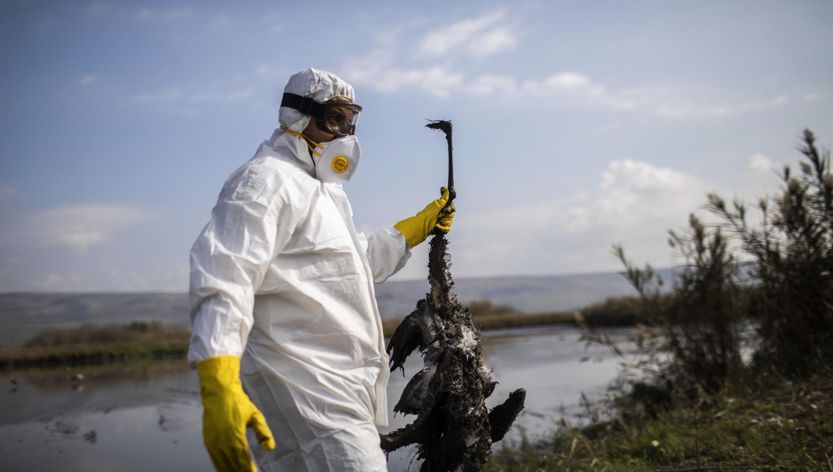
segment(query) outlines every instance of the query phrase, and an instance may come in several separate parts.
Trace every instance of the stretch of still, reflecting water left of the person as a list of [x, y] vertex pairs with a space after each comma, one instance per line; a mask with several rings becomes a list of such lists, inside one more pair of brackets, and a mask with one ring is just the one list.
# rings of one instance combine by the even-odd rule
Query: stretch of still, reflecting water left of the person
[[0, 470], [210, 470], [184, 360], [7, 372]]

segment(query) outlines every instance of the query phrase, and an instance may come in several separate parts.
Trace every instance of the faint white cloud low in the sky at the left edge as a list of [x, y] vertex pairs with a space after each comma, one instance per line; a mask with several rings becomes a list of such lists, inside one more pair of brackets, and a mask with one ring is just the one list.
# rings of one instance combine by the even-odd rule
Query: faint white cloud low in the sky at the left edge
[[17, 249], [62, 249], [83, 253], [106, 244], [118, 231], [150, 220], [148, 211], [131, 206], [59, 206], [22, 216], [2, 231], [3, 246]]

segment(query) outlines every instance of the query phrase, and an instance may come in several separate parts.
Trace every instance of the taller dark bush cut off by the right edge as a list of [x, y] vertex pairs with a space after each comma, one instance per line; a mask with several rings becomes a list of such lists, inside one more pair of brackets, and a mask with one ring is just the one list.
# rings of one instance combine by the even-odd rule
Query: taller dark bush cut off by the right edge
[[830, 152], [804, 132], [801, 175], [783, 171], [776, 196], [762, 198], [761, 222], [747, 222], [746, 206], [732, 207], [711, 194], [708, 209], [752, 257], [751, 281], [759, 287], [756, 318], [761, 346], [756, 365], [791, 376], [829, 369], [833, 361], [833, 176]]

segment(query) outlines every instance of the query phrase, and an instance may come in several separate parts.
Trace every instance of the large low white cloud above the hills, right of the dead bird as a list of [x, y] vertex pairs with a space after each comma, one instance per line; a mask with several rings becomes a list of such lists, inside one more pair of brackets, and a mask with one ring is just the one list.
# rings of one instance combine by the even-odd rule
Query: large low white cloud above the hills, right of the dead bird
[[[669, 266], [667, 230], [686, 226], [708, 190], [713, 189], [685, 172], [644, 161], [611, 161], [595, 190], [461, 220], [454, 260], [457, 267], [476, 268], [480, 276], [610, 271], [618, 268], [611, 245], [621, 243], [633, 261]], [[485, 241], [483, 227], [491, 228]], [[482, 242], [466, 243], [478, 241], [467, 236], [470, 231]]]

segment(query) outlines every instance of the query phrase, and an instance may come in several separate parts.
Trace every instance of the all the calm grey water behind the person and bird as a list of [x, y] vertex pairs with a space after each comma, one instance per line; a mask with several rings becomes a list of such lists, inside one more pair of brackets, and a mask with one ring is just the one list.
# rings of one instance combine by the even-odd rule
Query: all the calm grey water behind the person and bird
[[[582, 392], [596, 398], [616, 376], [619, 361], [601, 346], [584, 350], [580, 334], [564, 327], [484, 334], [486, 363], [500, 382], [487, 404], [526, 389], [514, 437], [519, 428], [532, 437], [546, 434], [562, 411], [583, 410]], [[591, 360], [580, 362], [585, 356]], [[391, 408], [419, 369], [421, 359], [412, 355], [407, 376], [392, 374]], [[83, 379], [72, 380], [76, 374]], [[212, 470], [198, 385], [185, 360], [0, 373], [0, 470]], [[397, 415], [382, 432], [412, 420]], [[392, 454], [388, 469], [407, 470], [412, 454]]]

